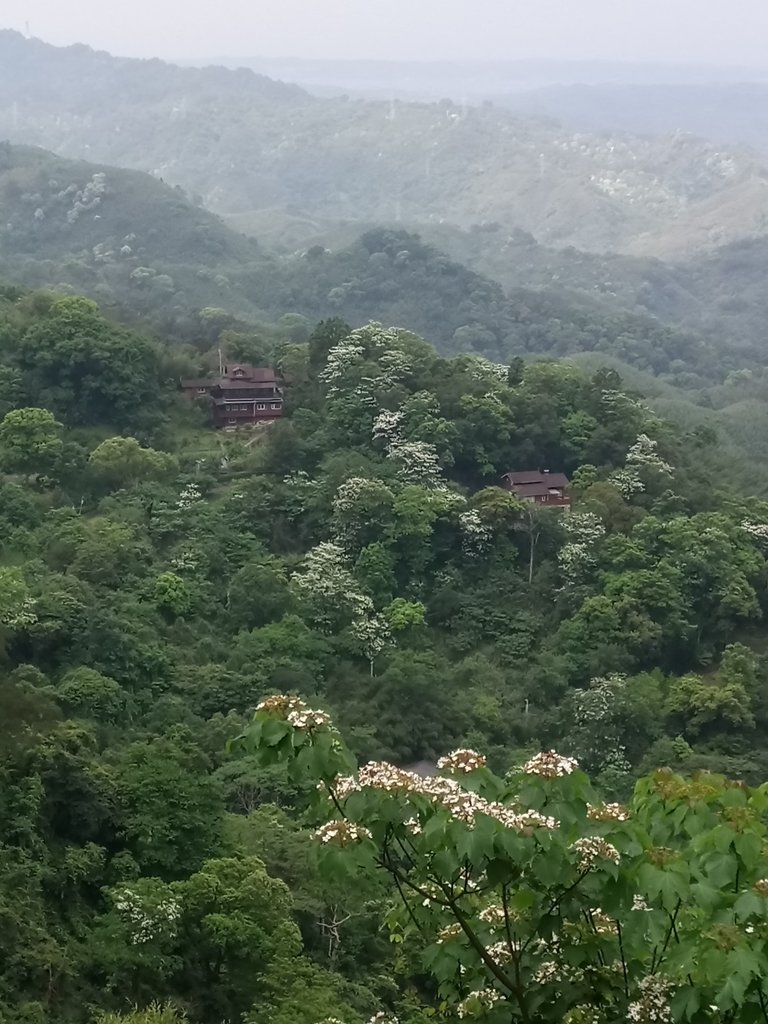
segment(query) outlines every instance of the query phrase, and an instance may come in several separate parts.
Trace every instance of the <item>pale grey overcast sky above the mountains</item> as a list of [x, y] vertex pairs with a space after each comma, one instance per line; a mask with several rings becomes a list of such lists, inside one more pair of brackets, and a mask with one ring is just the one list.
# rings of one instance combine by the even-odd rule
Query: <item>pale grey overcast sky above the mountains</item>
[[763, 65], [768, 0], [1, 0], [0, 27], [130, 56]]

